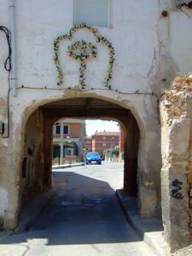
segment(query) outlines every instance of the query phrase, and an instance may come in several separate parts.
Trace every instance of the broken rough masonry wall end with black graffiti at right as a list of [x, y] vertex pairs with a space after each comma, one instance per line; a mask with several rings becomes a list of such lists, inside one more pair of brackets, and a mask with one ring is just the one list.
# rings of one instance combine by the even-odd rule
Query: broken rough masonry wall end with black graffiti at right
[[164, 236], [172, 250], [192, 242], [192, 76], [176, 79], [161, 102]]

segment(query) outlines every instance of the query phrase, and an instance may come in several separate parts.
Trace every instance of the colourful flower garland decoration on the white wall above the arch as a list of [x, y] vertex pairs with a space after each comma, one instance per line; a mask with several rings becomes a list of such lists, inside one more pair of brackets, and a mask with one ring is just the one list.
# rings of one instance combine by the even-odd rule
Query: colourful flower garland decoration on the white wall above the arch
[[[113, 65], [114, 65], [114, 49], [113, 45], [108, 41], [107, 38], [102, 37], [100, 32], [96, 27], [88, 26], [86, 23], [82, 23], [80, 25], [74, 25], [73, 28], [69, 31], [66, 35], [61, 35], [58, 38], [55, 39], [54, 42], [54, 49], [55, 49], [55, 66], [56, 71], [58, 73], [58, 82], [57, 85], [63, 84], [64, 75], [61, 69], [61, 63], [60, 63], [60, 43], [62, 40], [72, 40], [73, 39], [73, 33], [77, 32], [79, 29], [87, 28], [90, 32], [92, 32], [96, 36], [96, 42], [102, 43], [108, 46], [109, 49], [109, 67], [108, 67], [108, 75], [105, 78], [105, 86], [109, 89], [111, 88], [110, 80], [113, 77]], [[75, 60], [80, 61], [80, 67], [79, 67], [79, 84], [81, 85], [82, 89], [85, 87], [85, 79], [84, 79], [84, 72], [86, 70], [86, 61], [89, 61], [91, 57], [96, 58], [97, 50], [96, 46], [91, 43], [86, 43], [82, 41], [77, 41], [73, 45], [68, 47], [68, 55], [73, 57]], [[79, 53], [76, 52], [76, 50], [79, 49]], [[83, 60], [84, 59], [84, 60]], [[83, 64], [83, 65], [82, 65]]]

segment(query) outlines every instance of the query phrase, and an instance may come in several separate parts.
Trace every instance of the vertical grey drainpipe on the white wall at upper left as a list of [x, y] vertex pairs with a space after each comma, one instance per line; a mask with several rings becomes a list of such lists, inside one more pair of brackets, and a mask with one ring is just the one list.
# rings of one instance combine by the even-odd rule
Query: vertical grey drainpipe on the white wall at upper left
[[11, 72], [10, 72], [10, 88], [12, 90], [12, 96], [16, 96], [17, 84], [16, 84], [16, 44], [15, 44], [15, 0], [9, 0], [9, 15], [10, 15], [10, 31], [11, 31]]

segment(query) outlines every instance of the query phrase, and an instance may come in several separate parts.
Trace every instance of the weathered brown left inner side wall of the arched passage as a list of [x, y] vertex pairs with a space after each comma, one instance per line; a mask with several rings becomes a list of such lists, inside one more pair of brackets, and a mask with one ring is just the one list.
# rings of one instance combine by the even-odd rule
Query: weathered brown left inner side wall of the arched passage
[[44, 189], [43, 139], [43, 116], [41, 111], [37, 109], [26, 123], [24, 153], [20, 172], [21, 205]]

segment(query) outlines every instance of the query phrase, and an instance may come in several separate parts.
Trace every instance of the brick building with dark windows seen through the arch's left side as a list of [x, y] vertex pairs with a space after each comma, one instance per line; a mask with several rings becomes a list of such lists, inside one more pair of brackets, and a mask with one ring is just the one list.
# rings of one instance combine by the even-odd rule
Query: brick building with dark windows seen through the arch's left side
[[53, 164], [83, 160], [85, 121], [61, 119], [53, 127]]

